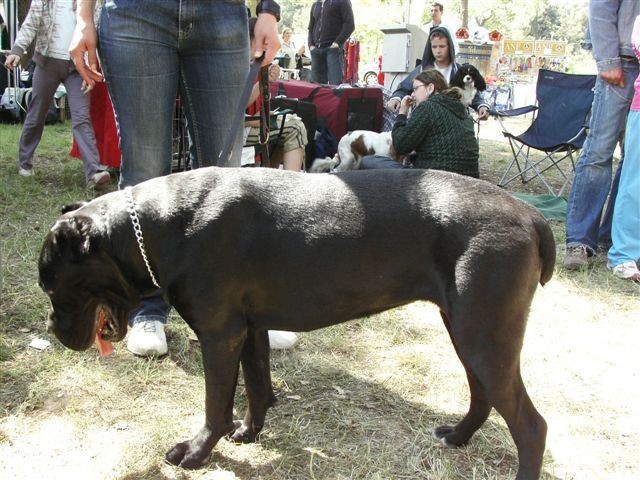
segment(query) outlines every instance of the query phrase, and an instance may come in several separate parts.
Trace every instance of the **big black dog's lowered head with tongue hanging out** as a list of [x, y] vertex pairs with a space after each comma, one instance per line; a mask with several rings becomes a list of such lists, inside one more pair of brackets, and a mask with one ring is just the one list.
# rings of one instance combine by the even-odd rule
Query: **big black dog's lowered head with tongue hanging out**
[[52, 310], [48, 330], [68, 348], [86, 350], [94, 341], [101, 309], [104, 340], [120, 341], [139, 294], [101, 246], [90, 216], [71, 211], [45, 238], [38, 262], [39, 285]]

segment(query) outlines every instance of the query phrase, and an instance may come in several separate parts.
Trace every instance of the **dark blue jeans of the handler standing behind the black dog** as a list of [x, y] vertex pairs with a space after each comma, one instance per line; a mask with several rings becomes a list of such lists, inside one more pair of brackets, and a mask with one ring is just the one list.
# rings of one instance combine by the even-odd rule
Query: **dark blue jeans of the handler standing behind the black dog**
[[[179, 93], [198, 166], [240, 166], [242, 129], [228, 162], [218, 156], [249, 72], [242, 0], [106, 0], [98, 32], [102, 71], [118, 125], [119, 187], [171, 173]], [[179, 235], [181, 232], [176, 232]], [[130, 324], [166, 321], [161, 293], [142, 300]]]

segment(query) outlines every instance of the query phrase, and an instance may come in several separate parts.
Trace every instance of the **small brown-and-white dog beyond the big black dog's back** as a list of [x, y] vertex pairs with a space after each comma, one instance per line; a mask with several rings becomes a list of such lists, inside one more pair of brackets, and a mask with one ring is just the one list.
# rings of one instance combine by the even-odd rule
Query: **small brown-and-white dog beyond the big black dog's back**
[[391, 132], [371, 132], [354, 130], [344, 135], [338, 142], [338, 153], [333, 158], [316, 158], [309, 172], [346, 172], [360, 168], [360, 161], [365, 155], [383, 155], [402, 162], [403, 156], [393, 148]]

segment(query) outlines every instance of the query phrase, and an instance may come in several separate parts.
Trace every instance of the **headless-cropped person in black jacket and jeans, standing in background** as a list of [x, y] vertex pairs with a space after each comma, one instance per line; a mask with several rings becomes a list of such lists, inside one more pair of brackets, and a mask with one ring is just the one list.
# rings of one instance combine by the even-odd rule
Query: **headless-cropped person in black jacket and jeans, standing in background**
[[344, 82], [343, 46], [354, 29], [349, 0], [317, 0], [311, 5], [308, 44], [314, 82], [330, 85]]

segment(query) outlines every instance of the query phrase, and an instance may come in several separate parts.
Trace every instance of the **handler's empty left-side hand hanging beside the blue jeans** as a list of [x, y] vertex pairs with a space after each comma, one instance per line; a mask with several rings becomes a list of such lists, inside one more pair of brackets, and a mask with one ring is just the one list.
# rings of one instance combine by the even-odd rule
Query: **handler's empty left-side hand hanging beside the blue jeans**
[[83, 80], [83, 92], [87, 93], [95, 86], [96, 82], [102, 82], [103, 77], [98, 69], [98, 56], [96, 27], [93, 19], [83, 21], [78, 18], [73, 32], [69, 53], [76, 71]]

